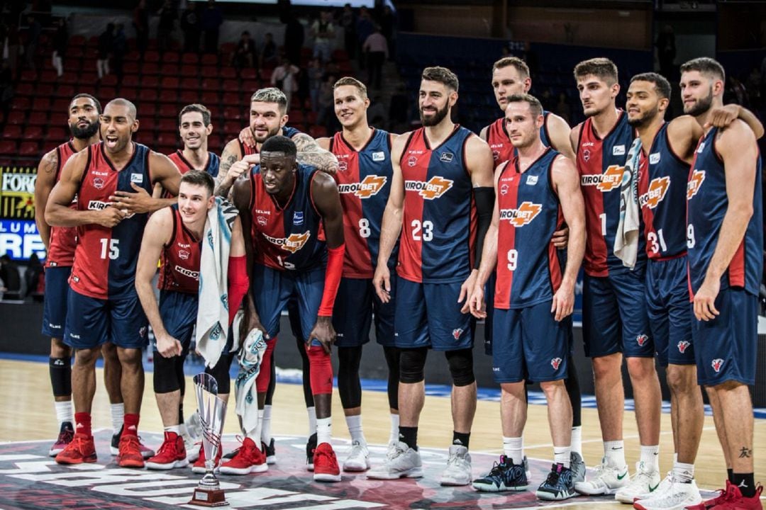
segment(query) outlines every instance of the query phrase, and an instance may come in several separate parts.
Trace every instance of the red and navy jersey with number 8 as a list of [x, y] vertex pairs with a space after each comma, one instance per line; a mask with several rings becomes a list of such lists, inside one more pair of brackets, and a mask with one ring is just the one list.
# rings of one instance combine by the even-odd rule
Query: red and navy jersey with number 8
[[[330, 152], [338, 158], [335, 174], [343, 206], [345, 278], [372, 278], [378, 262], [383, 211], [391, 193], [391, 136], [375, 129], [365, 146], [355, 151], [336, 133], [330, 139]], [[396, 253], [388, 258], [393, 268]]]

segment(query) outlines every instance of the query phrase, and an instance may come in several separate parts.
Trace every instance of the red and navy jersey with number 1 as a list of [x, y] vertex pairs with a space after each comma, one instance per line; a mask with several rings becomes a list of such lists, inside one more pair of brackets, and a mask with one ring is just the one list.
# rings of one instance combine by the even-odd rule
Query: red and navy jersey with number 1
[[[603, 139], [593, 127], [593, 119], [581, 124], [577, 145], [577, 169], [585, 200], [585, 272], [604, 277], [614, 272], [630, 271], [614, 255], [614, 239], [620, 223], [620, 184], [625, 159], [633, 143], [633, 128], [620, 111], [617, 123]], [[643, 228], [643, 220], [640, 222]], [[643, 232], [638, 239], [637, 265], [647, 260]]]

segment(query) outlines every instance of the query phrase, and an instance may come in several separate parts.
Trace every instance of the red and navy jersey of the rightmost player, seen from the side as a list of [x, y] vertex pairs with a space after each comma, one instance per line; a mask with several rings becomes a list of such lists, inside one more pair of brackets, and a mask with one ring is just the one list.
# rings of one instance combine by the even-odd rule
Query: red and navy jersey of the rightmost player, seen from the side
[[[705, 280], [715, 245], [718, 244], [723, 217], [728, 209], [726, 169], [715, 151], [717, 133], [718, 128], [712, 128], [699, 141], [686, 185], [686, 248], [689, 252], [689, 294], [692, 299]], [[736, 172], [737, 169], [730, 171]], [[761, 155], [758, 154], [753, 216], [734, 258], [721, 277], [721, 290], [742, 287], [750, 294], [758, 295], [764, 245], [761, 194]]]

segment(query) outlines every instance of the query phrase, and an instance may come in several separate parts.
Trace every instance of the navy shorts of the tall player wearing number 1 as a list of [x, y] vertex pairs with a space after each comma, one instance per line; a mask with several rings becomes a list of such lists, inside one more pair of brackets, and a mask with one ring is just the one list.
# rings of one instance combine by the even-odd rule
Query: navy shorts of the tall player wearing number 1
[[643, 268], [594, 277], [585, 274], [582, 333], [585, 356], [622, 352], [627, 358], [653, 358]]

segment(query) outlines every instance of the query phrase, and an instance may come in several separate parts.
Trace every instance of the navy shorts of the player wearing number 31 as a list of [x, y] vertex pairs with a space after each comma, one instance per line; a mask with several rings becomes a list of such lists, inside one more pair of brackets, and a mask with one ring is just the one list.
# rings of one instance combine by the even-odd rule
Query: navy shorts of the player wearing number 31
[[660, 365], [694, 365], [686, 255], [647, 264], [647, 315]]

